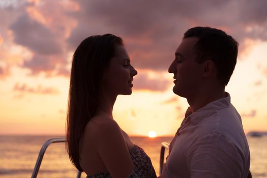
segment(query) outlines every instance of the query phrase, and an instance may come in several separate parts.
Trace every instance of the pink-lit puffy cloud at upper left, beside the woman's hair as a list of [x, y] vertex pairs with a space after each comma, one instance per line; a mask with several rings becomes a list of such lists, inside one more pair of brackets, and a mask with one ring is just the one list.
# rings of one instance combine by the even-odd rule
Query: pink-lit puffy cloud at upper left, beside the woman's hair
[[[24, 1], [23, 5], [13, 8], [19, 13], [4, 26], [8, 26], [12, 32], [15, 44], [32, 52], [31, 58], [24, 58], [22, 67], [30, 69], [34, 75], [45, 73], [46, 76], [69, 76], [70, 55], [65, 40], [75, 22], [66, 14], [75, 10], [75, 6], [72, 6], [74, 4], [68, 1]], [[4, 14], [8, 16], [7, 9]]]

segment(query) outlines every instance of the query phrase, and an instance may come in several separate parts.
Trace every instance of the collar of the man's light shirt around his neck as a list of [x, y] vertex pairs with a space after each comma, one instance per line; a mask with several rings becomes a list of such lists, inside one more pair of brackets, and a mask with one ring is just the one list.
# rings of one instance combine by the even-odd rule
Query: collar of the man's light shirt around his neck
[[229, 93], [225, 92], [225, 97], [219, 100], [215, 100], [204, 107], [198, 109], [196, 112], [190, 114], [188, 117], [185, 118], [186, 121], [190, 121], [192, 124], [196, 125], [201, 120], [215, 112], [216, 110], [223, 109], [229, 107], [231, 102], [231, 97]]

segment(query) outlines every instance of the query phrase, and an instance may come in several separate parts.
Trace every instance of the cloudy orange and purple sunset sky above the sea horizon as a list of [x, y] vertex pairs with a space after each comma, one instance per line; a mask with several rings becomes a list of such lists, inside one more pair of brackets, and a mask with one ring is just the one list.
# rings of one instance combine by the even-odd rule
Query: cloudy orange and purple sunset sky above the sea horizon
[[0, 134], [65, 133], [72, 55], [91, 35], [123, 38], [138, 74], [118, 96], [115, 121], [129, 135], [172, 136], [188, 107], [168, 67], [183, 34], [220, 28], [236, 39], [226, 91], [246, 133], [267, 131], [265, 0], [0, 0]]

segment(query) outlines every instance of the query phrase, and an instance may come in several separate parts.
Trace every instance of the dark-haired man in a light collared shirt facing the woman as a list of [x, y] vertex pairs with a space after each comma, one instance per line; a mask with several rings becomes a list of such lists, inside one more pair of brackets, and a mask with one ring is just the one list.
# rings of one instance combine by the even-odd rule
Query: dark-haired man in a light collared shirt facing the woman
[[194, 27], [184, 34], [169, 73], [173, 92], [190, 107], [170, 143], [165, 178], [248, 176], [248, 142], [225, 92], [237, 55], [238, 42], [219, 29]]

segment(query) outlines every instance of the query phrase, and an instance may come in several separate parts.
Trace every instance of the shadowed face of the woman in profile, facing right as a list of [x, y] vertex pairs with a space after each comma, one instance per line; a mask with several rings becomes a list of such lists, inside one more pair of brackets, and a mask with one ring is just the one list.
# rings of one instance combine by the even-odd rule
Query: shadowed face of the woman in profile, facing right
[[116, 45], [115, 56], [104, 72], [103, 85], [107, 94], [131, 95], [133, 76], [137, 71], [130, 64], [130, 57], [123, 45]]

